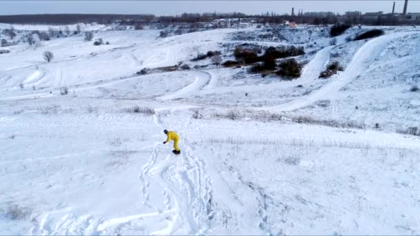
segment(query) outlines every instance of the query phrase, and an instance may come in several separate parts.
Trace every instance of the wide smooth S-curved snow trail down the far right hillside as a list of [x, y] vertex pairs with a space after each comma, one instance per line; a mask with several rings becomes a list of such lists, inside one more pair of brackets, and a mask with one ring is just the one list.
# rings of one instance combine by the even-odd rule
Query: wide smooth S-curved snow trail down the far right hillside
[[289, 104], [281, 104], [278, 106], [271, 106], [265, 109], [276, 111], [296, 110], [313, 104], [315, 101], [327, 98], [334, 98], [339, 90], [352, 82], [354, 78], [361, 75], [367, 70], [372, 63], [381, 55], [385, 46], [393, 39], [411, 35], [417, 32], [397, 32], [392, 35], [384, 35], [371, 39], [365, 43], [354, 55], [352, 61], [347, 66], [345, 71], [338, 75], [331, 83], [323, 86], [321, 89], [312, 92], [311, 95], [296, 99]]

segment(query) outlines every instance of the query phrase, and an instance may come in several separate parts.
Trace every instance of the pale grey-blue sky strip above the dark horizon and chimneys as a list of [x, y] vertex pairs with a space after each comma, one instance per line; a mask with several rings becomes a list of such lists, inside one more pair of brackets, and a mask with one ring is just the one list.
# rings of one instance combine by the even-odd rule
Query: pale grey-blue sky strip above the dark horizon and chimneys
[[[0, 14], [111, 13], [181, 14], [183, 12], [243, 12], [259, 14], [347, 10], [391, 12], [393, 1], [0, 1]], [[396, 0], [396, 12], [403, 11], [403, 0]], [[420, 12], [420, 1], [410, 0], [408, 12]]]

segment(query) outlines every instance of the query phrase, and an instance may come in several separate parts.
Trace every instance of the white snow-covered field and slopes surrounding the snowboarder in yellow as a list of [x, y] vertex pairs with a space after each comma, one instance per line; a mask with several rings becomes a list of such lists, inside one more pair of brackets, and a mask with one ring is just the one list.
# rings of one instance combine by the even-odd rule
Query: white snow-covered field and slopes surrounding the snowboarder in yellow
[[[420, 234], [417, 28], [330, 45], [322, 28], [89, 27], [109, 44], [1, 48], [0, 235]], [[302, 75], [190, 61], [247, 42], [304, 46]], [[344, 70], [318, 79], [332, 61]]]

